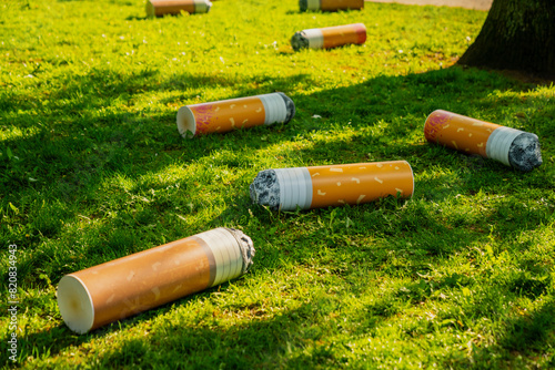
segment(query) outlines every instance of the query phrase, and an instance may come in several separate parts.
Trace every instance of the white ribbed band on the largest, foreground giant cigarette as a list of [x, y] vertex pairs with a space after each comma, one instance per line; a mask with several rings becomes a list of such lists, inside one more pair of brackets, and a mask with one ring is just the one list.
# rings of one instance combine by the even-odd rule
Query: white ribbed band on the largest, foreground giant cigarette
[[241, 276], [243, 256], [238, 240], [223, 227], [195, 235], [206, 243], [215, 260], [215, 278], [212, 286]]

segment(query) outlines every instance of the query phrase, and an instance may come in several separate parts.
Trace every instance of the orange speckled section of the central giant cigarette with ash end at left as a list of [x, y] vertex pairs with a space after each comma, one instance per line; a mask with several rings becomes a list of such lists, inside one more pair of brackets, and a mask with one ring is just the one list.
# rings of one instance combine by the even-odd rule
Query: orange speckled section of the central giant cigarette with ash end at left
[[405, 161], [307, 167], [312, 178], [311, 208], [362, 204], [387, 195], [410, 197], [414, 177]]

